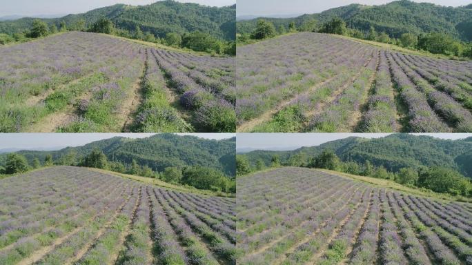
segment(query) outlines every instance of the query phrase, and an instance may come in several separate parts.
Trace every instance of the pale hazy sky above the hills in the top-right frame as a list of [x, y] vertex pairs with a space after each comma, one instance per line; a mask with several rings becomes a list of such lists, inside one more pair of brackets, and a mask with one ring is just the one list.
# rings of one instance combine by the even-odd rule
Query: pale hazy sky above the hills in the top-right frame
[[[271, 15], [271, 14], [311, 14], [319, 13], [330, 8], [347, 6], [351, 3], [364, 5], [382, 5], [393, 0], [237, 0], [236, 14], [244, 16]], [[466, 6], [472, 0], [414, 0], [415, 2], [429, 2], [441, 6]]]

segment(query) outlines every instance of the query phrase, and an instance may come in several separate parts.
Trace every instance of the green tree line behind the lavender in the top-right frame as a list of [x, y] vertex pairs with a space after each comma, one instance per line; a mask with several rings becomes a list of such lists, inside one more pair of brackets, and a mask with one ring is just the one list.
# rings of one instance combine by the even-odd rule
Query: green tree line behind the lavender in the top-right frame
[[299, 27], [295, 25], [295, 21], [292, 21], [288, 24], [288, 28], [281, 25], [278, 29], [275, 28], [271, 21], [259, 19], [255, 30], [251, 34], [242, 33], [237, 35], [237, 42], [252, 43], [290, 32], [319, 32], [344, 35], [356, 39], [389, 43], [411, 50], [424, 50], [434, 54], [472, 58], [472, 42], [458, 41], [446, 33], [429, 32], [417, 35], [413, 32], [406, 32], [399, 38], [395, 38], [389, 36], [386, 32], [375, 31], [373, 26], [368, 31], [348, 28], [346, 22], [337, 17], [321, 25], [315, 19], [311, 19], [302, 23]]

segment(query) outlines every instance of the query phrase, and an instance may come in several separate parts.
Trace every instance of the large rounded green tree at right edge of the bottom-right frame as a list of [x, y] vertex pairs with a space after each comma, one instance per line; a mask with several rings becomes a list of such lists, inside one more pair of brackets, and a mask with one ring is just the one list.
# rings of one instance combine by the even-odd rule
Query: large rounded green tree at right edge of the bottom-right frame
[[435, 166], [422, 170], [418, 177], [418, 186], [428, 188], [437, 193], [453, 193], [471, 196], [472, 184], [469, 179], [455, 170]]

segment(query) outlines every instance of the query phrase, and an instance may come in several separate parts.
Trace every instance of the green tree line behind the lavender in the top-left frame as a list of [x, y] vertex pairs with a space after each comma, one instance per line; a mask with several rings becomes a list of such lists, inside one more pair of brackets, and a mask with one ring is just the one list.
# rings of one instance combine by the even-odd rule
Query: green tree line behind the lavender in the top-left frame
[[14, 42], [21, 43], [31, 39], [46, 37], [57, 32], [67, 31], [104, 33], [128, 39], [158, 43], [175, 48], [187, 48], [197, 52], [208, 52], [215, 55], [236, 55], [235, 41], [222, 41], [205, 32], [196, 31], [184, 34], [168, 32], [166, 37], [160, 38], [156, 37], [151, 32], [143, 32], [139, 26], [135, 26], [134, 30], [116, 28], [110, 19], [104, 17], [98, 19], [88, 27], [86, 26], [85, 19], [79, 19], [79, 21], [70, 26], [70, 28], [68, 28], [65, 21], [61, 21], [59, 28], [57, 28], [55, 24], [48, 26], [48, 24], [41, 21], [41, 19], [35, 19], [32, 21], [31, 29], [27, 32], [15, 33], [12, 36], [0, 33], [0, 44]]

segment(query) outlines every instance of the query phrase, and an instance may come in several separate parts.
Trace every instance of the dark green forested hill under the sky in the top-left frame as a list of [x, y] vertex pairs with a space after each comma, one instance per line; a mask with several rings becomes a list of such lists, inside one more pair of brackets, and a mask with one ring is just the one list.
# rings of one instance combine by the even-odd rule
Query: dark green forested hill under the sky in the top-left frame
[[[65, 21], [68, 28], [74, 28], [81, 20], [89, 26], [103, 17], [113, 21], [117, 28], [133, 31], [139, 26], [143, 32], [151, 32], [156, 37], [165, 37], [168, 32], [184, 34], [200, 31], [209, 33], [217, 39], [235, 39], [236, 5], [217, 8], [166, 0], [147, 6], [117, 4], [83, 14], [69, 14], [66, 17], [42, 20], [49, 25], [55, 24], [58, 28], [61, 21]], [[33, 18], [1, 21], [0, 33], [12, 35], [29, 30], [32, 21]]]

